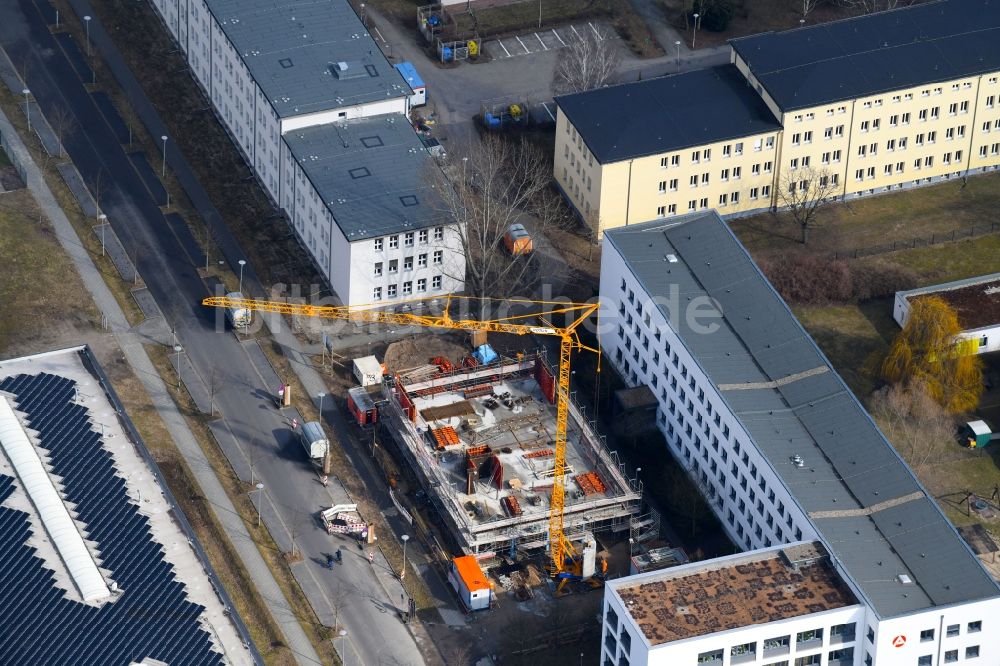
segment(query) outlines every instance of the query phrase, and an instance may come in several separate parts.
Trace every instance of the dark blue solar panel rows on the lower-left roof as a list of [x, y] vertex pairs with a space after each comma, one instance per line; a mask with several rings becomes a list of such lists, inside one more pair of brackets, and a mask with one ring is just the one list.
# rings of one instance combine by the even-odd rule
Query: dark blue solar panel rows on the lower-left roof
[[[123, 592], [100, 607], [67, 598], [26, 545], [27, 514], [0, 506], [0, 664], [224, 663], [200, 622], [204, 607], [187, 600], [149, 520], [129, 501], [101, 435], [74, 401], [74, 385], [41, 373], [4, 379], [0, 391], [15, 395], [39, 433], [101, 566]], [[14, 479], [0, 474], [0, 504], [13, 491]]]

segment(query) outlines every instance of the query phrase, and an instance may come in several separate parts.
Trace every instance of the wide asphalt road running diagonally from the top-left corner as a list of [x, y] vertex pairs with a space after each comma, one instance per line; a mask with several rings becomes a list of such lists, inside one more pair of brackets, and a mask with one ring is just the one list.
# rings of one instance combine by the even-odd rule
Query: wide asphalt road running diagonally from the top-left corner
[[[27, 62], [27, 85], [42, 111], [51, 117], [55, 108], [63, 107], [72, 117], [73, 129], [64, 137], [67, 153], [85, 181], [92, 183], [101, 174], [103, 211], [126, 250], [137, 258], [140, 274], [175, 327], [185, 353], [203, 378], [214, 371], [219, 387], [216, 404], [228, 426], [243, 445], [253, 442], [258, 450], [257, 476], [266, 485], [264, 515], [271, 532], [277, 537], [288, 525], [299, 523], [298, 546], [307, 562], [319, 569], [317, 562], [335, 545], [313, 521], [303, 520], [303, 513], [328, 505], [329, 491], [316, 482], [284, 416], [274, 408], [270, 394], [275, 387], [263, 385], [244, 349], [232, 335], [219, 330], [219, 313], [200, 305], [208, 290], [185, 243], [164, 221], [118, 138], [30, 0], [0, 3], [0, 44], [13, 62]], [[274, 524], [279, 514], [281, 523]], [[331, 597], [347, 599], [348, 612], [340, 620], [348, 631], [349, 661], [354, 661], [353, 652], [358, 658], [355, 663], [423, 662], [406, 628], [393, 613], [385, 612], [392, 600], [367, 561], [348, 557], [342, 567], [321, 573], [314, 576], [316, 584]]]

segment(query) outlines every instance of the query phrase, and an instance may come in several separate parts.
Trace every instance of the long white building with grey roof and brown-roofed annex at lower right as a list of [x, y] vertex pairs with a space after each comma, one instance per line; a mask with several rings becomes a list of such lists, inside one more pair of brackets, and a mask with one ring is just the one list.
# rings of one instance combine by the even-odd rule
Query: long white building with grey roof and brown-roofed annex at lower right
[[602, 665], [1000, 663], [1000, 588], [715, 211], [608, 231], [600, 298], [744, 551], [609, 585]]

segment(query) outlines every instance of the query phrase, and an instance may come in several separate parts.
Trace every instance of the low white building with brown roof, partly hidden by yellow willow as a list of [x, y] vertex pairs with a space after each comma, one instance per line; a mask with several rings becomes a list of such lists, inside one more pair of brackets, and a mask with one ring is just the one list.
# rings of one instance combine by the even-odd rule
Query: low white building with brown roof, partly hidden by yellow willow
[[892, 318], [900, 328], [910, 319], [910, 302], [920, 296], [938, 296], [958, 315], [963, 349], [985, 354], [1000, 350], [1000, 273], [980, 275], [930, 287], [897, 291]]

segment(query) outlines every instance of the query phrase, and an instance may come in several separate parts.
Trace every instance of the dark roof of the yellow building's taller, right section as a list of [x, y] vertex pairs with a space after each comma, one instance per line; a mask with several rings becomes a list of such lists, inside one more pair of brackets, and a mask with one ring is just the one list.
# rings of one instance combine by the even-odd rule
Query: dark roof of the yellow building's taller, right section
[[1000, 4], [942, 0], [730, 40], [786, 111], [1000, 69]]

